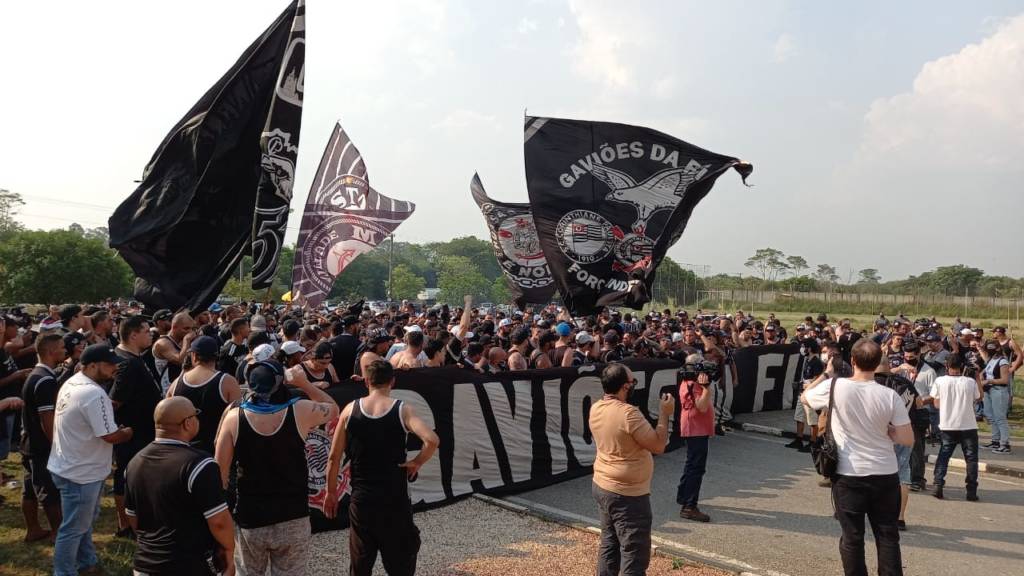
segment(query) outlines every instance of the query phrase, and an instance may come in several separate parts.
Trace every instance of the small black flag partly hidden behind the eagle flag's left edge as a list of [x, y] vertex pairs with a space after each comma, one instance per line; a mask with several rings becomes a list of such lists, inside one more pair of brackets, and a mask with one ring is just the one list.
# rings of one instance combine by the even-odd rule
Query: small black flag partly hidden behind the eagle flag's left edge
[[483, 213], [483, 219], [487, 221], [495, 257], [505, 273], [516, 305], [522, 310], [527, 303], [550, 302], [555, 293], [555, 283], [537, 237], [529, 204], [498, 202], [487, 198], [478, 174], [473, 174], [469, 190]]

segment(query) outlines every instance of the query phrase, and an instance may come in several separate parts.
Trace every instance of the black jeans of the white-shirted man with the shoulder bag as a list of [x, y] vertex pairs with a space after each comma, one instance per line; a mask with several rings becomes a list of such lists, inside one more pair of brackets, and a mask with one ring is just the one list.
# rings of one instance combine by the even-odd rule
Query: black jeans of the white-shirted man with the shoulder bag
[[879, 576], [902, 576], [899, 550], [899, 478], [839, 476], [833, 481], [836, 520], [843, 529], [839, 540], [843, 573], [867, 576], [864, 562], [864, 517], [871, 525], [879, 557]]

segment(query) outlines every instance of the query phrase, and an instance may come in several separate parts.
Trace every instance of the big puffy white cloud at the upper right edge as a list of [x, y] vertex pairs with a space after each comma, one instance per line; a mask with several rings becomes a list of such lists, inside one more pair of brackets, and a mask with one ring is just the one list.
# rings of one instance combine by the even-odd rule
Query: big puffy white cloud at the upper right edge
[[874, 100], [859, 160], [938, 171], [1020, 170], [1024, 14], [924, 65], [909, 92]]

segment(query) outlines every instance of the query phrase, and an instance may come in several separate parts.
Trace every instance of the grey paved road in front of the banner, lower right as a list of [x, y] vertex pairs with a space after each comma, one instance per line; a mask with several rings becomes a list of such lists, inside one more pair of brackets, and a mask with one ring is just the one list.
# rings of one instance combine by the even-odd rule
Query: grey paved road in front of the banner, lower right
[[[783, 448], [786, 442], [740, 431], [713, 441], [701, 491], [700, 507], [712, 517], [706, 525], [678, 517], [683, 451], [657, 457], [651, 498], [655, 535], [761, 572], [841, 574], [829, 490], [817, 486], [810, 455]], [[929, 479], [931, 474], [929, 466]], [[963, 474], [950, 470], [944, 501], [911, 493], [909, 530], [901, 542], [905, 574], [1024, 574], [1024, 480], [982, 475], [981, 502], [964, 500], [963, 482]], [[590, 484], [584, 477], [518, 498], [593, 519]], [[874, 573], [869, 533], [868, 566]]]

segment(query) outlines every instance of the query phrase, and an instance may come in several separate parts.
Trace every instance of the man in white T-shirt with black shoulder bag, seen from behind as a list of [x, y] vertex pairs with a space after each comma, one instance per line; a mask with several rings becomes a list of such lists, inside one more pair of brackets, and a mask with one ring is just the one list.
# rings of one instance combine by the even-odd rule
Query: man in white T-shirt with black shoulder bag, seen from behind
[[836, 520], [843, 529], [840, 554], [846, 574], [867, 574], [864, 562], [864, 517], [871, 524], [879, 576], [902, 575], [899, 548], [899, 469], [893, 443], [913, 445], [910, 417], [897, 394], [874, 381], [882, 348], [861, 338], [851, 351], [852, 378], [837, 378], [803, 395], [813, 410], [828, 407], [835, 390], [829, 434], [839, 448], [833, 479]]

